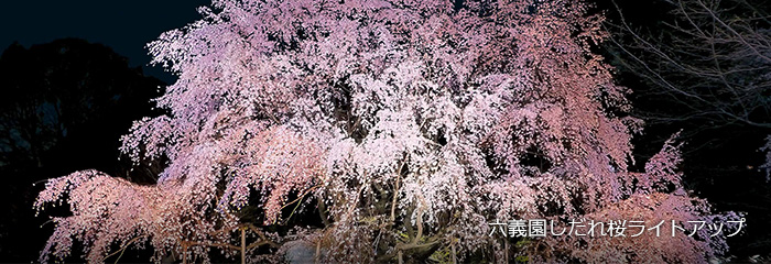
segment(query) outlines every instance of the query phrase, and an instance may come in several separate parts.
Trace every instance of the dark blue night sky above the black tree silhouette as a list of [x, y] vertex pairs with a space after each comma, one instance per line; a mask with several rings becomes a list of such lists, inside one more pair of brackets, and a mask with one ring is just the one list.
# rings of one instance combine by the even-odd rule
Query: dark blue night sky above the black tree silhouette
[[129, 57], [130, 66], [169, 82], [173, 77], [150, 67], [144, 45], [169, 30], [200, 19], [197, 7], [209, 0], [6, 1], [0, 8], [0, 50], [14, 41], [25, 47], [62, 37], [101, 43]]

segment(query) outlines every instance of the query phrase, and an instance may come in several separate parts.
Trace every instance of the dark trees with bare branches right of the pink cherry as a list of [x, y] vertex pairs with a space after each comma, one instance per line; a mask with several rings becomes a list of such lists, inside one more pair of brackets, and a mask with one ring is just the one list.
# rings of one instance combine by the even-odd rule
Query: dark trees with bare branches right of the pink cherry
[[[759, 151], [771, 133], [768, 1], [601, 2], [613, 18], [606, 47], [634, 90], [632, 114], [648, 123], [640, 140], [662, 142], [682, 130], [685, 183], [719, 207], [749, 212], [748, 221], [769, 222], [771, 186]], [[735, 246], [741, 254], [767, 253], [771, 228], [753, 224], [742, 240]]]

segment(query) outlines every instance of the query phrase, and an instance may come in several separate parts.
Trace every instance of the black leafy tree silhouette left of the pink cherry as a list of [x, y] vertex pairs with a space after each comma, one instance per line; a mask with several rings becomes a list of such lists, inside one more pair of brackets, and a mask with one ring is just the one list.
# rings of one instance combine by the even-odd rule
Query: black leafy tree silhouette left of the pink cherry
[[[130, 68], [109, 47], [58, 40], [0, 56], [0, 258], [31, 261], [40, 235], [33, 183], [51, 174], [98, 168], [138, 183], [154, 180], [158, 164], [129, 172], [119, 162], [120, 135], [132, 120], [152, 114], [163, 82]], [[51, 228], [48, 224], [47, 228]]]

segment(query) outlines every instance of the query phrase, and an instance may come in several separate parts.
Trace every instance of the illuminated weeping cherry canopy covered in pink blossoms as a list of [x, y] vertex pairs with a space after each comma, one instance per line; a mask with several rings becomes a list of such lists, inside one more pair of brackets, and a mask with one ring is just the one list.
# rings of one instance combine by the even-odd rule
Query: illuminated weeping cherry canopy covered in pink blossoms
[[640, 121], [593, 52], [602, 16], [579, 1], [213, 8], [149, 45], [180, 79], [158, 99], [169, 114], [137, 121], [121, 150], [138, 163], [167, 157], [158, 184], [93, 170], [52, 179], [35, 207], [66, 197], [73, 216], [55, 219], [42, 261], [68, 255], [73, 239], [89, 262], [132, 243], [155, 261], [208, 261], [216, 244], [237, 244], [248, 206], [256, 226], [286, 224], [290, 197], [312, 217], [318, 207], [325, 226], [257, 239], [305, 241], [326, 261], [452, 249], [499, 262], [703, 262], [726, 249], [708, 235], [520, 249], [489, 235], [497, 219], [715, 219], [682, 189], [674, 143], [628, 172]]

